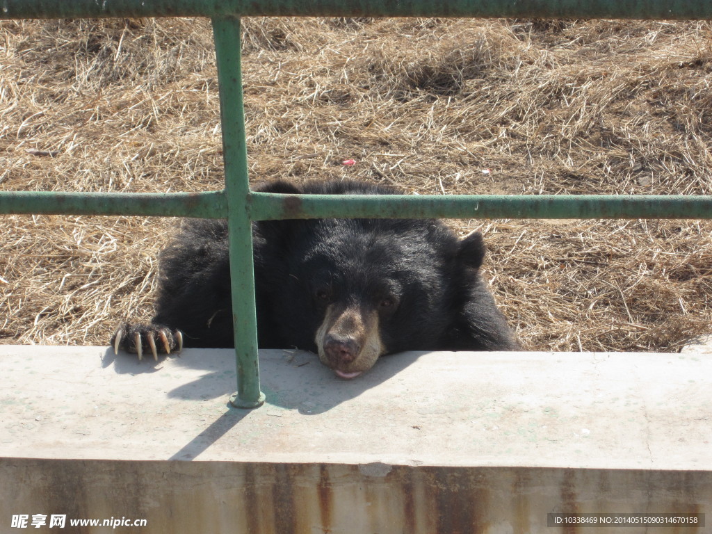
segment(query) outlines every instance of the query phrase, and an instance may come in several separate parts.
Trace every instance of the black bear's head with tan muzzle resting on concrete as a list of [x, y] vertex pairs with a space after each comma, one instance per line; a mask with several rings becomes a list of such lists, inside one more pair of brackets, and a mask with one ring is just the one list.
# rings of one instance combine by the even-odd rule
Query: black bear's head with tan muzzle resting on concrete
[[459, 240], [439, 221], [274, 221], [262, 235], [281, 256], [276, 328], [352, 379], [378, 358], [434, 350], [462, 313], [482, 263], [481, 234]]

